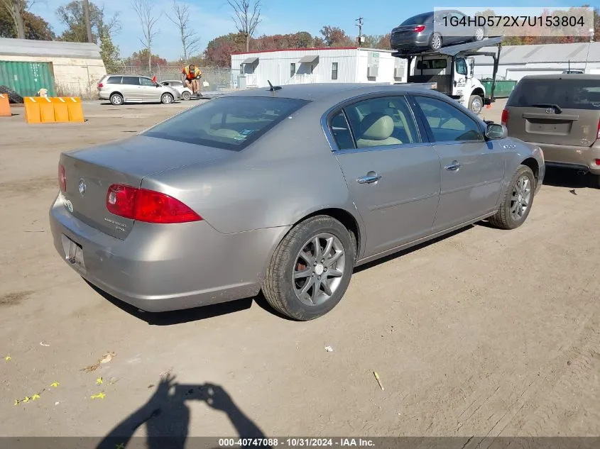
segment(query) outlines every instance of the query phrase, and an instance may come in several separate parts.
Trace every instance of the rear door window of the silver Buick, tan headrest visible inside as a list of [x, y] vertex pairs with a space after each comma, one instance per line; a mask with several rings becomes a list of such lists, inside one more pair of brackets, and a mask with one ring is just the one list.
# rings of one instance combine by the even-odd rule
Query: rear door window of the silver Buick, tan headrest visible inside
[[[382, 96], [344, 107], [351, 133], [342, 129], [341, 118], [336, 118], [338, 128], [331, 130], [340, 149], [349, 147], [349, 136], [354, 136], [356, 148], [420, 143], [419, 130], [404, 96]], [[342, 143], [342, 139], [343, 142]]]

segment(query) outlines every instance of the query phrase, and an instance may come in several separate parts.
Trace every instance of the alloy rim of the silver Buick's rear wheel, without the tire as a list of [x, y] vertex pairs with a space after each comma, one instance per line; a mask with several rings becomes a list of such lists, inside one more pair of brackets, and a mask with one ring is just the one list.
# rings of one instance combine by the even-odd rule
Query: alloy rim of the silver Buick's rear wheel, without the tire
[[330, 233], [313, 236], [295, 259], [292, 282], [296, 296], [307, 306], [323, 304], [339, 288], [345, 268], [344, 245], [339, 238]]

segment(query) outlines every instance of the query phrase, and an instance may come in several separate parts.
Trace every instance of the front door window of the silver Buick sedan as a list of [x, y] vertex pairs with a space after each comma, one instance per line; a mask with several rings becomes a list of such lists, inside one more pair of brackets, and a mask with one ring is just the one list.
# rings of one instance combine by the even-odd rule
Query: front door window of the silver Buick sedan
[[415, 96], [436, 142], [484, 140], [471, 117], [445, 101], [429, 96]]

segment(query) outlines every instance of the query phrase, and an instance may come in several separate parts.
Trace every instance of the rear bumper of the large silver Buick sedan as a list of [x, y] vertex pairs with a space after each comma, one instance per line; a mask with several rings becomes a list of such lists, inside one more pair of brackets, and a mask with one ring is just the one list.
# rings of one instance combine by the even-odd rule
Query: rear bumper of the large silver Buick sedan
[[[145, 311], [160, 312], [255, 296], [273, 249], [288, 228], [223, 234], [206, 221], [136, 223], [125, 240], [72, 216], [58, 195], [50, 228], [60, 256], [84, 279]], [[65, 235], [81, 246], [83, 265], [65, 256]]]

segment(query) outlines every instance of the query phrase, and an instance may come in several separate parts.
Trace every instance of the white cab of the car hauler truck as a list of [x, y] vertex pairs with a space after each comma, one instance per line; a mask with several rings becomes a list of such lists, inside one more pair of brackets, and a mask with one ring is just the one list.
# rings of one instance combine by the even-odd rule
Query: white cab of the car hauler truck
[[474, 77], [474, 67], [473, 57], [418, 55], [411, 65], [408, 82], [435, 82], [437, 91], [479, 113], [484, 107], [486, 89]]

